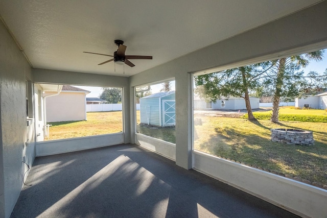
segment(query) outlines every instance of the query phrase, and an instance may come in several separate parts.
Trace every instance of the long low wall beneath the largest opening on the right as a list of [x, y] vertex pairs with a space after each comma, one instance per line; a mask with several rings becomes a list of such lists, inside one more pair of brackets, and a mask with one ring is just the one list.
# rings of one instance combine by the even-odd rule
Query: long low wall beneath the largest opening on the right
[[302, 217], [326, 217], [327, 190], [193, 151], [193, 168]]

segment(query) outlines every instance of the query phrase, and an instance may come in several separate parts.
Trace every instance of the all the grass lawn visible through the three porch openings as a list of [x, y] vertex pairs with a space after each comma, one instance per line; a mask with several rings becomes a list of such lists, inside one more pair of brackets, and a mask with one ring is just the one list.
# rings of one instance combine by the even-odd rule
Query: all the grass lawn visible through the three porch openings
[[[280, 112], [307, 113], [312, 110], [281, 109]], [[324, 113], [317, 110], [317, 113]], [[269, 112], [267, 112], [269, 113]], [[322, 114], [324, 115], [324, 114]], [[261, 167], [265, 171], [285, 174], [327, 185], [327, 123], [282, 121], [272, 124], [269, 120], [251, 123], [244, 118], [215, 117], [196, 114], [202, 125], [195, 126], [194, 149]], [[175, 143], [175, 128], [159, 128], [139, 124], [137, 132]], [[80, 122], [52, 123], [50, 140], [100, 135], [122, 131], [122, 112], [87, 113], [87, 120]], [[270, 129], [291, 128], [313, 131], [314, 146], [294, 146], [272, 142]]]

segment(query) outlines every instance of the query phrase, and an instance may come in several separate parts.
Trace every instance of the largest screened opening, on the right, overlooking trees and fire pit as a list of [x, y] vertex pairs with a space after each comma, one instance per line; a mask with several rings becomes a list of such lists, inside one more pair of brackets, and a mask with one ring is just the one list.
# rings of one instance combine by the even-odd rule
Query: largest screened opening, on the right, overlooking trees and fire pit
[[[294, 56], [306, 58], [306, 54]], [[285, 59], [286, 63], [292, 62], [291, 58]], [[278, 175], [288, 175], [288, 178], [298, 177], [320, 185], [327, 185], [327, 178], [323, 176], [325, 175], [325, 157], [327, 156], [325, 149], [327, 147], [325, 140], [327, 123], [323, 118], [325, 110], [294, 107], [297, 97], [295, 92], [301, 90], [301, 87], [314, 88], [316, 85], [319, 87], [319, 81], [314, 80], [317, 75], [323, 75], [325, 69], [318, 68], [316, 73], [313, 73], [314, 60], [309, 61], [313, 65], [309, 65], [308, 69], [295, 67], [296, 63], [286, 65], [283, 67], [288, 70], [287, 78], [283, 78], [283, 83], [277, 83], [274, 78], [277, 78], [275, 73], [278, 72], [279, 65], [274, 64], [278, 61], [279, 59], [225, 69], [212, 74], [194, 75], [193, 102], [197, 106], [194, 107], [193, 114], [194, 150], [241, 162]], [[270, 68], [268, 69], [268, 67]], [[305, 74], [301, 78], [302, 71]], [[307, 79], [310, 76], [312, 78]], [[244, 78], [245, 80], [243, 80]], [[265, 79], [269, 79], [269, 81]], [[300, 80], [296, 81], [296, 79]], [[218, 81], [219, 84], [213, 84], [213, 81]], [[302, 86], [303, 84], [308, 86]], [[281, 87], [277, 89], [278, 85]], [[259, 101], [261, 97], [265, 96], [273, 99], [270, 97], [274, 96], [276, 90], [283, 92], [278, 93], [282, 95], [279, 102], [288, 102], [290, 106], [278, 107], [277, 105], [275, 111], [278, 112], [278, 122], [273, 123], [271, 122], [271, 119], [274, 118], [272, 102], [265, 103], [268, 105], [266, 107], [260, 107]], [[291, 94], [294, 95], [291, 96]], [[226, 106], [227, 100], [224, 99], [224, 96], [230, 96], [230, 105]], [[312, 101], [316, 102], [312, 102], [312, 104], [316, 104], [316, 107], [322, 106], [324, 98], [321, 97], [314, 98], [315, 100]], [[216, 115], [196, 111], [205, 104], [208, 106], [206, 99], [216, 99], [221, 108], [228, 107], [229, 109], [230, 106], [233, 109], [214, 111], [217, 113]], [[304, 99], [306, 98], [302, 100]], [[251, 110], [246, 109], [248, 106], [251, 107]], [[306, 117], [306, 119], [301, 117]], [[317, 120], [317, 117], [321, 119]], [[295, 138], [294, 140], [285, 138], [279, 140], [280, 142], [274, 142], [271, 140], [271, 129], [312, 131], [314, 144], [309, 136], [303, 143], [297, 142]]]

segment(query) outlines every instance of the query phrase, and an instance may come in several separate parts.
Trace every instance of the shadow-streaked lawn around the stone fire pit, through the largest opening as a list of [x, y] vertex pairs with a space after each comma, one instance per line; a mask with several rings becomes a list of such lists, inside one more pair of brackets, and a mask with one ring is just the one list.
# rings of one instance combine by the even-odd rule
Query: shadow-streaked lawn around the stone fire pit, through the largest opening
[[[195, 126], [196, 150], [327, 185], [327, 123], [251, 123], [243, 118], [200, 116]], [[270, 129], [291, 128], [313, 131], [314, 146], [272, 142]]]

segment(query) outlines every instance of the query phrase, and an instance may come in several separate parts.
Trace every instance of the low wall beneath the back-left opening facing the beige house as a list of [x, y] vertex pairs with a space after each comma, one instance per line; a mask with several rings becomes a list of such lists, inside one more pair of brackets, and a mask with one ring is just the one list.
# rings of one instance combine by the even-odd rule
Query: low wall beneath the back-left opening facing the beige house
[[94, 149], [124, 143], [123, 133], [36, 142], [36, 156]]

